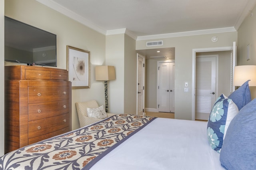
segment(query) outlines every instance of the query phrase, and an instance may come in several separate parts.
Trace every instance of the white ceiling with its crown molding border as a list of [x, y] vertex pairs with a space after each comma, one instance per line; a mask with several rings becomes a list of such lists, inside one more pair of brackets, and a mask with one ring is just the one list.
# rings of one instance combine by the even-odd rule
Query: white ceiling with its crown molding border
[[105, 35], [135, 40], [234, 32], [256, 0], [37, 0]]

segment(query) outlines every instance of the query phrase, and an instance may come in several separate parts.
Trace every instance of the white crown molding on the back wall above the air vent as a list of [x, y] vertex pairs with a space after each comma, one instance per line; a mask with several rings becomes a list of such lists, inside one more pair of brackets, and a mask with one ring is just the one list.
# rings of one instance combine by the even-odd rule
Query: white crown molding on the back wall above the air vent
[[176, 32], [170, 34], [157, 34], [150, 36], [138, 36], [136, 41], [140, 40], [152, 40], [159, 38], [174, 38], [174, 37], [185, 37], [185, 36], [198, 36], [204, 34], [217, 34], [217, 33], [225, 33], [225, 32], [236, 32], [234, 27], [227, 28], [216, 28], [216, 29], [208, 29], [208, 30], [196, 30], [196, 31], [187, 31], [187, 32]]

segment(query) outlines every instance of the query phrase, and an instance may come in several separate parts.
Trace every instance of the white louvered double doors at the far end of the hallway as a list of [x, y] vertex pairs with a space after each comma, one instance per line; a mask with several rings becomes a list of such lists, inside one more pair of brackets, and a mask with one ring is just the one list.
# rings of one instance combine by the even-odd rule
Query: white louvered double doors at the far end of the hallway
[[158, 111], [174, 113], [175, 63], [158, 64]]

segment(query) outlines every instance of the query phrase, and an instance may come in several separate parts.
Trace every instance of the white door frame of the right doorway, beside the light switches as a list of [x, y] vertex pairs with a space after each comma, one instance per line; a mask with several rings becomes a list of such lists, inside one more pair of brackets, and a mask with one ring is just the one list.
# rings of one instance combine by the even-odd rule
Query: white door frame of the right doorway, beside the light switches
[[[233, 42], [233, 46], [236, 42]], [[210, 52], [210, 51], [232, 51], [234, 48], [233, 46], [229, 47], [213, 47], [213, 48], [195, 48], [192, 49], [192, 111], [191, 111], [191, 120], [195, 120], [195, 102], [196, 102], [196, 94], [195, 94], [195, 87], [196, 87], [196, 53], [198, 52]], [[236, 49], [234, 50], [236, 51]], [[233, 67], [236, 65], [236, 62], [233, 62]]]

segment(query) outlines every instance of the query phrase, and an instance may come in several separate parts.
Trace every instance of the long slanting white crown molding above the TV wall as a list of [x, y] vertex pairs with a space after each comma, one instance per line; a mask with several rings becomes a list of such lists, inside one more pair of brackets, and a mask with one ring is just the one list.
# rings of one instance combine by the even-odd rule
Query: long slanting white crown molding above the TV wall
[[61, 14], [64, 14], [65, 16], [68, 16], [69, 18], [72, 18], [73, 20], [76, 20], [77, 22], [80, 22], [81, 24], [84, 24], [85, 26], [88, 26], [89, 28], [95, 30], [96, 32], [106, 35], [106, 30], [103, 30], [102, 28], [96, 26], [89, 20], [86, 20], [85, 18], [81, 17], [75, 12], [65, 8], [64, 6], [61, 6], [60, 4], [57, 4], [52, 0], [36, 0], [36, 1], [41, 4], [44, 4], [45, 6], [48, 6], [49, 8], [52, 8], [53, 10], [60, 12]]

